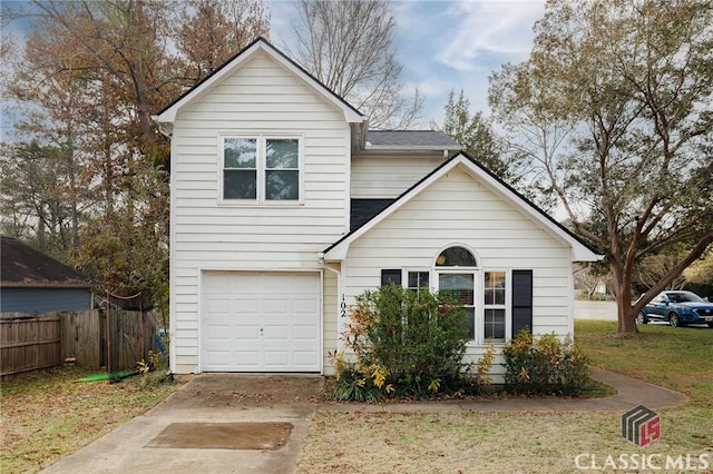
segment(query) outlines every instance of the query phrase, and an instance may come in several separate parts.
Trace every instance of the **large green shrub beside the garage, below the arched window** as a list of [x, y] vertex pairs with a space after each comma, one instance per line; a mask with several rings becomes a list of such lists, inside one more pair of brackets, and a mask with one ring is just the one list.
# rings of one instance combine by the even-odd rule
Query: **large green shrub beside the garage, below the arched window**
[[446, 294], [397, 285], [356, 298], [342, 339], [352, 353], [332, 354], [334, 398], [380, 399], [473, 393], [465, 377], [466, 312]]

